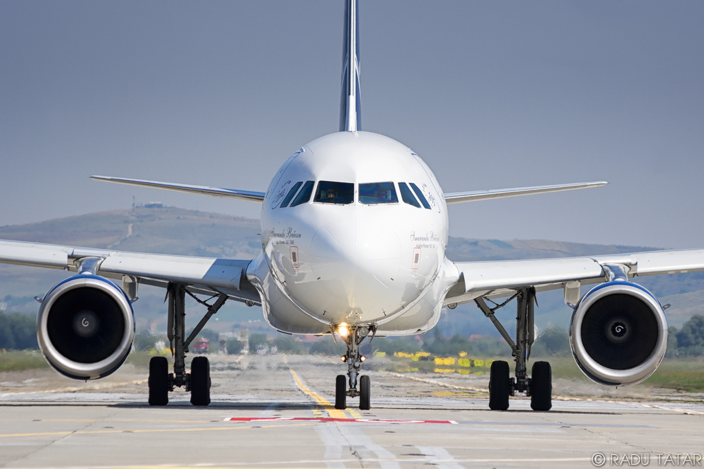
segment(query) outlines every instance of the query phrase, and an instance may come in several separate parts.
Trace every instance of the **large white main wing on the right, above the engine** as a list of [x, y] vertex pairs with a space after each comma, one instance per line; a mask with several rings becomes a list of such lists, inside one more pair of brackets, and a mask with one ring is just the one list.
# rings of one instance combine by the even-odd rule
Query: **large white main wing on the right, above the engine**
[[623, 266], [629, 278], [704, 270], [704, 249], [649, 251], [608, 256], [529, 259], [525, 261], [457, 262], [460, 280], [444, 304], [465, 303], [479, 296], [500, 297], [515, 290], [569, 288], [569, 282], [593, 284], [608, 280], [608, 265]]

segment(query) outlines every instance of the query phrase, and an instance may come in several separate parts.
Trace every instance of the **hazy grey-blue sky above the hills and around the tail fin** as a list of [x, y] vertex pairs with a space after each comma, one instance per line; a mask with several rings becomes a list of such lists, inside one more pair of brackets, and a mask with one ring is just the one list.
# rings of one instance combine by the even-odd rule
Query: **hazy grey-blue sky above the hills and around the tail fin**
[[[0, 2], [0, 225], [138, 202], [89, 175], [265, 190], [337, 131], [343, 3]], [[704, 247], [704, 3], [360, 0], [362, 129], [462, 204], [451, 235]]]

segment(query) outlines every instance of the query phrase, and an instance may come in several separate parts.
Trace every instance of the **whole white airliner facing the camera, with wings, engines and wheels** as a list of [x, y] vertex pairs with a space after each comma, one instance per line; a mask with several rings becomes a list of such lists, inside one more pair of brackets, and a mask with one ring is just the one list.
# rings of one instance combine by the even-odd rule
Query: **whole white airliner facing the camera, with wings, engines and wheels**
[[[448, 205], [600, 187], [584, 182], [445, 193], [422, 158], [389, 137], [361, 130], [358, 0], [346, 0], [339, 132], [295, 151], [265, 192], [123, 177], [93, 180], [261, 204], [261, 251], [253, 259], [142, 254], [111, 249], [0, 241], [0, 262], [76, 273], [51, 288], [37, 313], [46, 361], [67, 377], [94, 380], [124, 363], [132, 348], [132, 302], [139, 284], [163, 287], [168, 299], [168, 360], [149, 363], [149, 404], [168, 404], [184, 387], [191, 404], [210, 404], [208, 358], [186, 370], [194, 337], [226, 301], [260, 305], [267, 323], [285, 334], [329, 335], [346, 344], [346, 375], [335, 380], [335, 407], [359, 398], [371, 408], [361, 369], [365, 339], [422, 334], [446, 306], [474, 303], [512, 350], [494, 361], [489, 408], [506, 410], [525, 394], [536, 411], [552, 406], [546, 361], [528, 370], [536, 337], [536, 293], [562, 289], [572, 308], [570, 346], [594, 382], [628, 386], [646, 380], [667, 349], [666, 306], [631, 282], [641, 275], [704, 270], [704, 249], [527, 261], [452, 262]], [[582, 294], [582, 285], [596, 286]], [[185, 298], [207, 308], [186, 336]], [[205, 298], [205, 299], [203, 299]], [[515, 337], [496, 311], [516, 300]]]

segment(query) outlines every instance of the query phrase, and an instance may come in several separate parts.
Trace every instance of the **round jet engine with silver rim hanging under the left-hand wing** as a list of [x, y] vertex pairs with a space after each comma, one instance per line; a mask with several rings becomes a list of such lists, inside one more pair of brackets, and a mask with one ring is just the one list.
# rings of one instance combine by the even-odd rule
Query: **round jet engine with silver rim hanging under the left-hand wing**
[[75, 275], [56, 284], [42, 301], [37, 342], [59, 373], [76, 380], [106, 377], [132, 349], [132, 304], [110, 280]]

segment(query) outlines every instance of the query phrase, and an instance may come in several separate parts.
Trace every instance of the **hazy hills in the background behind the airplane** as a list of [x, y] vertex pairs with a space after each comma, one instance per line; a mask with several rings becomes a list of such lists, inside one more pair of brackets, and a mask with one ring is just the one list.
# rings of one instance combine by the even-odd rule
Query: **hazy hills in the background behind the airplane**
[[[0, 227], [0, 239], [68, 244], [73, 246], [120, 249], [122, 251], [180, 254], [184, 256], [222, 256], [253, 258], [260, 250], [259, 222], [221, 213], [207, 213], [176, 207], [150, 206], [127, 210], [88, 213], [25, 225]], [[528, 258], [556, 258], [619, 254], [649, 251], [643, 246], [607, 246], [548, 241], [545, 239], [498, 240], [451, 237], [447, 256], [453, 261], [494, 261]], [[68, 273], [57, 270], [0, 265], [0, 311], [36, 313], [34, 295], [44, 296], [52, 285]], [[694, 313], [700, 313], [704, 298], [704, 274], [663, 275], [637, 280], [653, 294], [671, 303], [667, 311], [672, 325], [681, 327]], [[139, 301], [134, 304], [139, 327], [165, 322], [164, 292], [152, 287], [140, 287]], [[539, 294], [536, 323], [569, 323], [571, 310], [562, 302], [562, 292]], [[189, 306], [189, 313], [201, 315], [202, 308]], [[499, 315], [507, 326], [513, 310], [504, 308]], [[260, 308], [246, 308], [228, 303], [218, 313], [213, 327], [227, 329], [233, 324], [267, 330]], [[444, 334], [494, 334], [493, 325], [473, 305], [463, 305], [444, 313], [440, 323]], [[268, 331], [269, 332], [269, 331]]]

